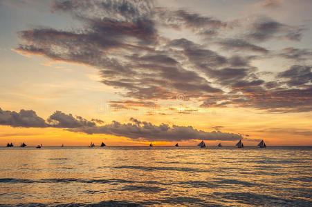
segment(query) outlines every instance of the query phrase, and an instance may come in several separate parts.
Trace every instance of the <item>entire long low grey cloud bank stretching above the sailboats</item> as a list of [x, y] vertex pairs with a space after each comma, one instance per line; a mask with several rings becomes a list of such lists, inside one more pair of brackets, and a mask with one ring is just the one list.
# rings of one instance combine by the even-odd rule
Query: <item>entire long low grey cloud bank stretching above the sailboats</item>
[[[98, 119], [94, 121], [100, 122]], [[112, 124], [96, 126], [95, 122], [88, 121], [80, 116], [66, 115], [64, 112], [56, 111], [48, 117], [48, 124], [41, 117], [37, 117], [33, 110], [21, 110], [19, 113], [14, 111], [3, 111], [0, 108], [0, 125], [13, 127], [54, 127], [66, 128], [71, 132], [84, 132], [87, 134], [105, 134], [129, 137], [130, 139], [142, 139], [147, 141], [186, 141], [192, 139], [203, 140], [228, 140], [233, 141], [243, 139], [241, 135], [228, 132], [205, 132], [196, 130], [192, 126], [169, 126], [160, 124], [156, 126], [150, 122], [138, 121], [131, 117], [132, 123], [120, 124], [113, 121]]]

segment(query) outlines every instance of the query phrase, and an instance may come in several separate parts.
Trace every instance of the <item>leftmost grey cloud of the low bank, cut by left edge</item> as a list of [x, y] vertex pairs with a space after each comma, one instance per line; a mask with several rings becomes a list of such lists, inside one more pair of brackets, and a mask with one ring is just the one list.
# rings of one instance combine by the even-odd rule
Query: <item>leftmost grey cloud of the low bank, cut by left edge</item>
[[20, 110], [19, 112], [2, 110], [0, 108], [0, 125], [13, 127], [47, 127], [48, 125], [33, 110]]

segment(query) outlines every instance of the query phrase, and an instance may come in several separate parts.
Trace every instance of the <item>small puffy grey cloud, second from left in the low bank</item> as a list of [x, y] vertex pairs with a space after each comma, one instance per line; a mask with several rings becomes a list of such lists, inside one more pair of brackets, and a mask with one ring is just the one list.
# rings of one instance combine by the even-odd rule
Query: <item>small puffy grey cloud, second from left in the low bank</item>
[[79, 128], [79, 127], [91, 127], [96, 126], [95, 122], [88, 121], [80, 116], [73, 117], [73, 115], [66, 115], [59, 110], [55, 111], [53, 115], [47, 119], [51, 127], [57, 128]]

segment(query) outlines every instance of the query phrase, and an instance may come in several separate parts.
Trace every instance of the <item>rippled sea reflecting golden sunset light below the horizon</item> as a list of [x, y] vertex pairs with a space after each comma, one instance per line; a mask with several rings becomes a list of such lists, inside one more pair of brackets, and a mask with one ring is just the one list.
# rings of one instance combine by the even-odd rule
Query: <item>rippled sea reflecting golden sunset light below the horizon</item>
[[312, 148], [0, 148], [0, 166], [3, 206], [312, 206]]

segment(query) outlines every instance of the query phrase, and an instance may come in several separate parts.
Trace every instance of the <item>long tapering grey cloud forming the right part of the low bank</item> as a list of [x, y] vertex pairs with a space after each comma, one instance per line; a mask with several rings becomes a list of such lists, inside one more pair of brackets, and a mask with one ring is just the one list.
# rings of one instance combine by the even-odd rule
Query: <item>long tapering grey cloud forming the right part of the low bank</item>
[[144, 139], [147, 141], [187, 141], [192, 139], [199, 140], [228, 140], [233, 141], [243, 139], [241, 135], [228, 132], [212, 131], [205, 132], [196, 130], [192, 126], [169, 126], [167, 124], [154, 125], [146, 121], [130, 119], [134, 124], [120, 124], [113, 121], [100, 127], [68, 129], [75, 132], [85, 132], [87, 134], [107, 134], [131, 139]]

